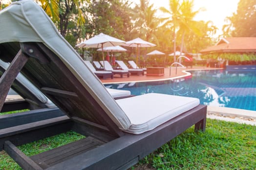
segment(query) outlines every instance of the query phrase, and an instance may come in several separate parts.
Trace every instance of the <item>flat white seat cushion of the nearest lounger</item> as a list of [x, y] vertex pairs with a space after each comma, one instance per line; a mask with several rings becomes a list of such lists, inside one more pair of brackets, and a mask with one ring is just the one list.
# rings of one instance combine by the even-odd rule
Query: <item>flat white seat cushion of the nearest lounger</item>
[[131, 126], [126, 130], [141, 134], [199, 105], [199, 99], [148, 93], [116, 101], [125, 111]]

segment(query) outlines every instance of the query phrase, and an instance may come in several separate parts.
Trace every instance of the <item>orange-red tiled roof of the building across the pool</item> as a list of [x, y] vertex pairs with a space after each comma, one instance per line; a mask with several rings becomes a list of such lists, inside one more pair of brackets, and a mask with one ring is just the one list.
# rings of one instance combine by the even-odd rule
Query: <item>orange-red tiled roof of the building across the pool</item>
[[219, 42], [211, 47], [200, 51], [201, 53], [234, 53], [234, 52], [256, 52], [256, 37], [229, 37], [221, 38]]

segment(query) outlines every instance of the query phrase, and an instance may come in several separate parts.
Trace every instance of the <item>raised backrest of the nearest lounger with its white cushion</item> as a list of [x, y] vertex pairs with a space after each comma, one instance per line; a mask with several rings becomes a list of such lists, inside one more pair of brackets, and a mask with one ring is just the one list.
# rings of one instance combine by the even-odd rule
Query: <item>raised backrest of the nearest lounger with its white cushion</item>
[[4, 8], [0, 23], [0, 57], [20, 49], [29, 55], [21, 72], [66, 115], [109, 125], [103, 121], [107, 115], [110, 122], [128, 129], [127, 115], [35, 1], [16, 1]]

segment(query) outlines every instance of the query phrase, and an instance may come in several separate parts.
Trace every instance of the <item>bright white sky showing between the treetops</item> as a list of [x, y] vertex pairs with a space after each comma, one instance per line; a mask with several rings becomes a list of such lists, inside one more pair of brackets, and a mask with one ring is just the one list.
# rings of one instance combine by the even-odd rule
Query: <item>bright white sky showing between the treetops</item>
[[[140, 3], [140, 0], [132, 0], [136, 3]], [[156, 8], [161, 6], [166, 9], [169, 8], [169, 0], [149, 0], [150, 3], [154, 3]], [[222, 34], [221, 29], [225, 24], [225, 17], [232, 16], [237, 10], [237, 4], [239, 0], [194, 0], [194, 11], [199, 8], [204, 8], [205, 11], [200, 12], [194, 19], [195, 20], [204, 20], [204, 21], [213, 21], [219, 30], [218, 34]]]

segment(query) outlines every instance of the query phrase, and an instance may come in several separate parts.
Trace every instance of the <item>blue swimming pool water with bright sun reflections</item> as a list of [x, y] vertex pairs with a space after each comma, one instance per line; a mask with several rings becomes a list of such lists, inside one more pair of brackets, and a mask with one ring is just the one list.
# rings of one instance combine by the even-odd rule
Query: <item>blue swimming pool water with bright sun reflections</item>
[[256, 70], [198, 70], [192, 76], [157, 82], [107, 84], [133, 95], [163, 93], [195, 97], [201, 104], [256, 111]]

